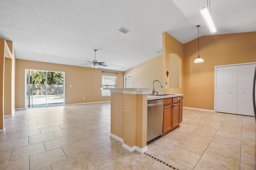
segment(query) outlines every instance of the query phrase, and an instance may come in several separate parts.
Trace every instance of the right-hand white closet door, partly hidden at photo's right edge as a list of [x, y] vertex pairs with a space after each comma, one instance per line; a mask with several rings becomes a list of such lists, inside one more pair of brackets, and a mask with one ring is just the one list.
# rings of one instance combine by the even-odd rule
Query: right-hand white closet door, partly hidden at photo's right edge
[[237, 113], [254, 116], [252, 104], [253, 76], [256, 64], [238, 66]]

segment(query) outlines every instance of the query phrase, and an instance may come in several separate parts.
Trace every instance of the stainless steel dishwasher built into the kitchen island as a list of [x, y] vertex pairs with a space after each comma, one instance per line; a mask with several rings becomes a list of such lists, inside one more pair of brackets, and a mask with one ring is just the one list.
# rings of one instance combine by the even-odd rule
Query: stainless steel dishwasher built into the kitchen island
[[147, 142], [162, 135], [164, 99], [148, 100]]

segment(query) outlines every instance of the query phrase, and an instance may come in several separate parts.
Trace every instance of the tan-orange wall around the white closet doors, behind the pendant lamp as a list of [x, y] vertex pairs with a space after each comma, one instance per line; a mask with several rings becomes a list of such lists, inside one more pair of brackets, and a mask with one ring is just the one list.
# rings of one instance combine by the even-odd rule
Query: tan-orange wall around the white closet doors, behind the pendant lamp
[[214, 66], [256, 61], [256, 32], [202, 36], [184, 44], [184, 106], [214, 109]]

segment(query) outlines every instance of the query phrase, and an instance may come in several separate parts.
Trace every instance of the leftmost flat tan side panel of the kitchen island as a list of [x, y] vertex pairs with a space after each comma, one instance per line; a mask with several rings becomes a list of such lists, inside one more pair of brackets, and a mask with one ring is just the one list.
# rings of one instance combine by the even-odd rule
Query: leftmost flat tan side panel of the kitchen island
[[110, 132], [123, 139], [123, 94], [111, 93]]

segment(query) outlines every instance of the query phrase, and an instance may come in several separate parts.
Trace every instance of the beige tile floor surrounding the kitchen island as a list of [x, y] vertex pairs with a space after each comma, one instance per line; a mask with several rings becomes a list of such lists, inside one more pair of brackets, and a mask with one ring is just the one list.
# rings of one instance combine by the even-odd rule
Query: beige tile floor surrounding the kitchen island
[[[110, 137], [110, 102], [16, 110], [4, 118], [0, 170], [169, 170]], [[180, 170], [255, 170], [254, 117], [183, 109], [146, 153]]]

